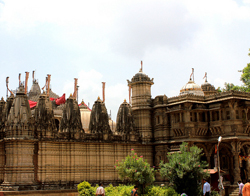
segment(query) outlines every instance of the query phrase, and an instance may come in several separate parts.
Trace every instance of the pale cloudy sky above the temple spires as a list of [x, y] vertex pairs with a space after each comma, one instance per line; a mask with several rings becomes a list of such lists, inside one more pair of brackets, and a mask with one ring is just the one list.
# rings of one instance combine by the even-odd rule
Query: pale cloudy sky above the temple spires
[[129, 99], [127, 79], [154, 78], [152, 98], [178, 96], [194, 68], [195, 83], [241, 85], [250, 61], [250, 0], [0, 0], [0, 96], [32, 71], [40, 86], [79, 102], [102, 98], [112, 119]]

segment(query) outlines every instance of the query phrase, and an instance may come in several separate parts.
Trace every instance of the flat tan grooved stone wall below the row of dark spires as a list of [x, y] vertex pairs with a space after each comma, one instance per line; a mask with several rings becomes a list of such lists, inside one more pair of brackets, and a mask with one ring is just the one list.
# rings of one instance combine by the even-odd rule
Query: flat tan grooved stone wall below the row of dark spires
[[[37, 181], [114, 182], [114, 165], [134, 149], [153, 165], [152, 146], [118, 143], [38, 142]], [[35, 166], [36, 167], [36, 166]]]

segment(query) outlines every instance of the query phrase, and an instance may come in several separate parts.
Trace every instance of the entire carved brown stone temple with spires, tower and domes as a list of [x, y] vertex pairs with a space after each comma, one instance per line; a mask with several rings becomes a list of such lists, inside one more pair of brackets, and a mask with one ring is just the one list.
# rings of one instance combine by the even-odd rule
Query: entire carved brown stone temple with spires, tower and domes
[[[152, 98], [153, 79], [142, 69], [127, 82], [131, 99], [121, 103], [116, 123], [104, 98], [90, 109], [78, 105], [76, 88], [62, 101], [49, 87], [50, 75], [43, 92], [34, 78], [29, 92], [20, 82], [0, 101], [0, 190], [76, 189], [84, 180], [118, 184], [115, 162], [132, 148], [157, 168], [183, 141], [202, 148], [202, 159], [216, 170], [219, 136], [225, 189], [250, 177], [249, 93], [218, 93], [207, 79], [200, 86], [190, 78], [179, 96]], [[156, 181], [164, 179], [156, 175]]]

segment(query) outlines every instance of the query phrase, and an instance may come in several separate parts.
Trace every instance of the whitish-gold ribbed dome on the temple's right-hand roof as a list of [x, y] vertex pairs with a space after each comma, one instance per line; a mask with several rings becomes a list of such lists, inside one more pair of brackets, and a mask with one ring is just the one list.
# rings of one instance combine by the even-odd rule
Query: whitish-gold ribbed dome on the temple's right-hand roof
[[201, 87], [198, 84], [195, 84], [191, 78], [188, 83], [180, 90], [180, 95], [186, 94], [204, 96], [204, 92], [202, 91]]

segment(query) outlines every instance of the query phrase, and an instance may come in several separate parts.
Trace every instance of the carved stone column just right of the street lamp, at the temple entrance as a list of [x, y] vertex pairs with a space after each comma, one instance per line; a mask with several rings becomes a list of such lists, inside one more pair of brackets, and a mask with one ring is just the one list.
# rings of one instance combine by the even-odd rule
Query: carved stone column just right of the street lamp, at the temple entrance
[[231, 142], [232, 153], [234, 157], [234, 184], [237, 184], [240, 178], [240, 165], [239, 165], [239, 154], [241, 148], [241, 142]]

